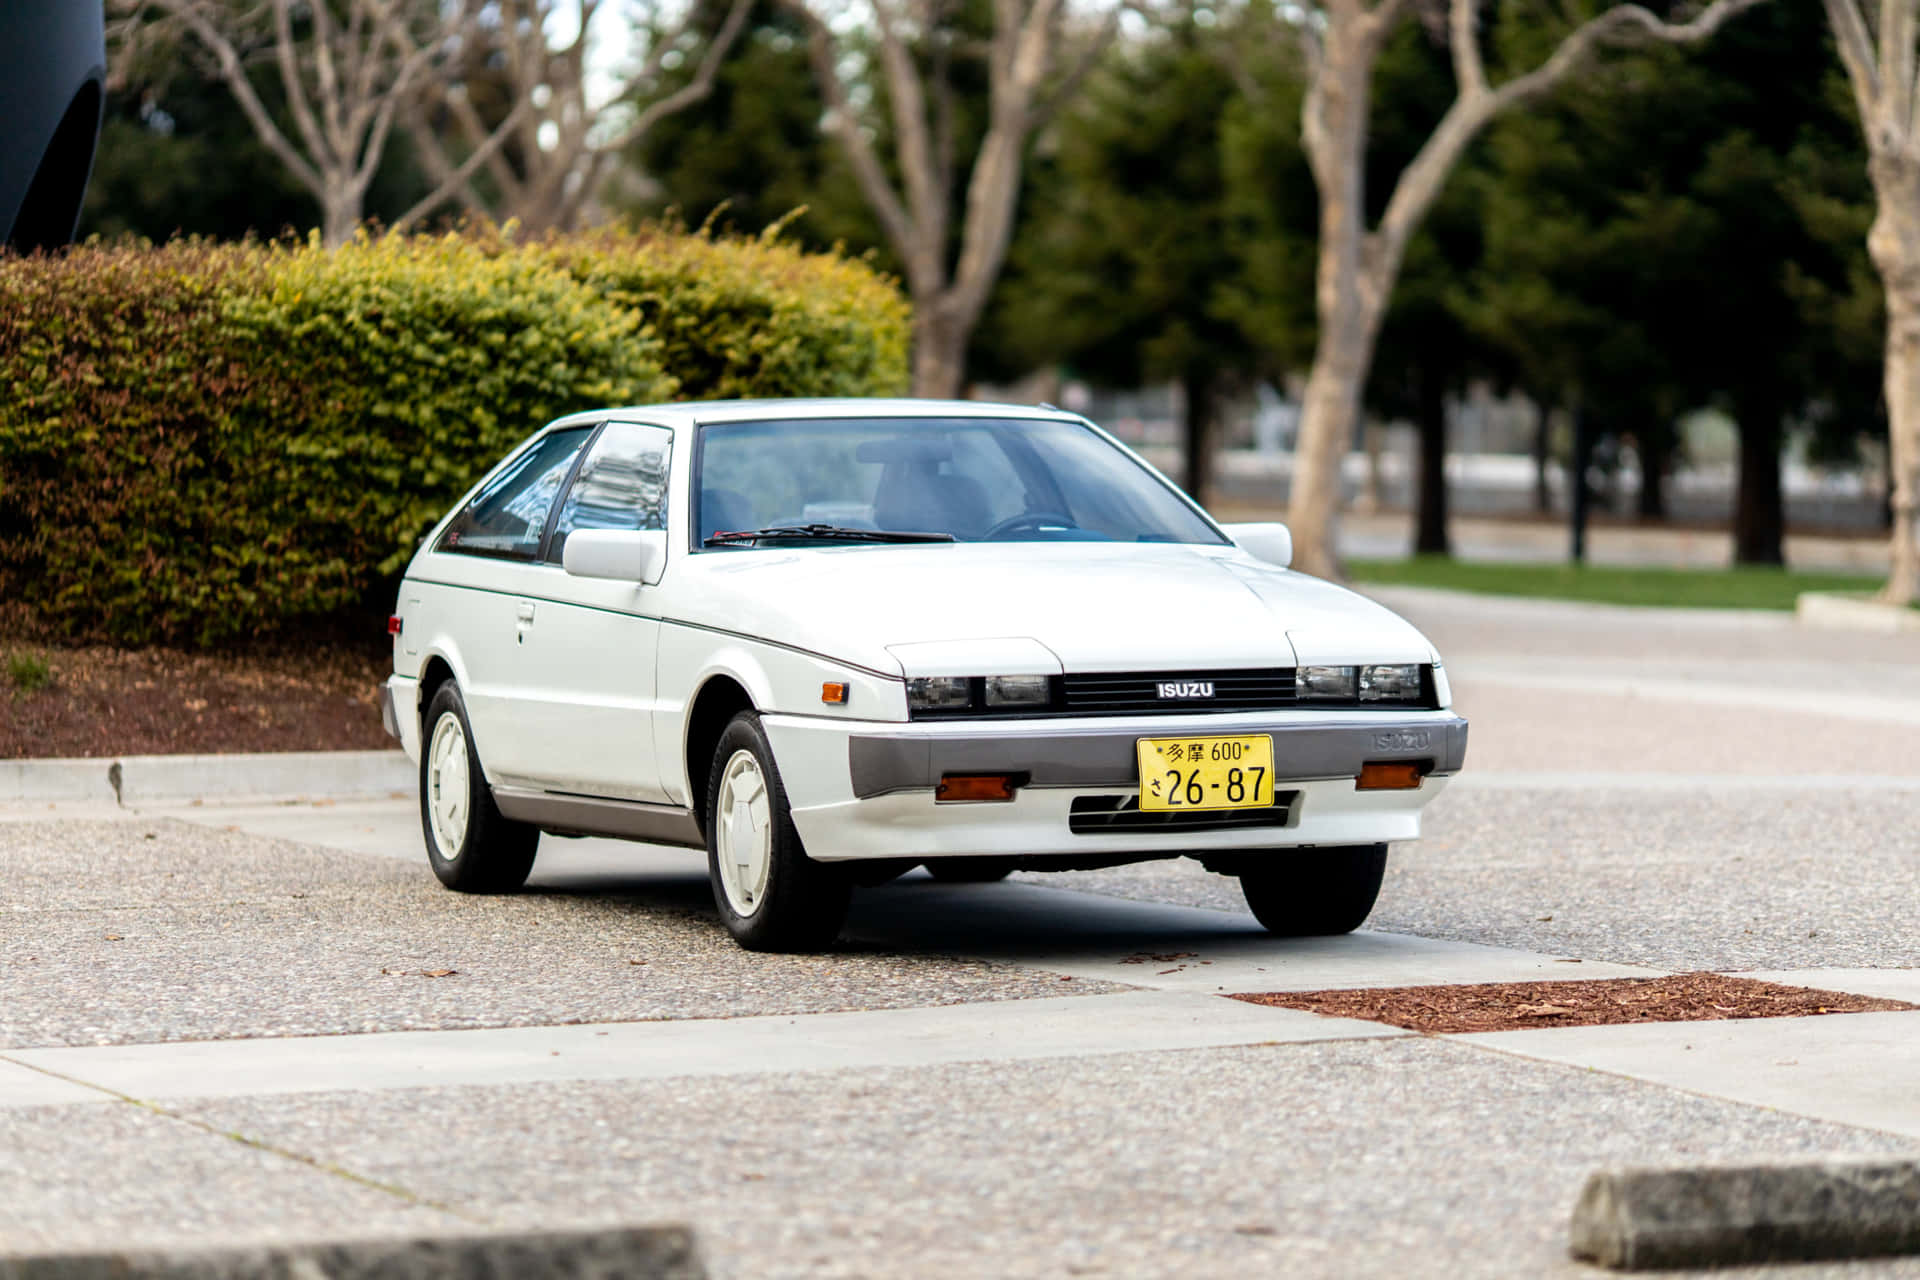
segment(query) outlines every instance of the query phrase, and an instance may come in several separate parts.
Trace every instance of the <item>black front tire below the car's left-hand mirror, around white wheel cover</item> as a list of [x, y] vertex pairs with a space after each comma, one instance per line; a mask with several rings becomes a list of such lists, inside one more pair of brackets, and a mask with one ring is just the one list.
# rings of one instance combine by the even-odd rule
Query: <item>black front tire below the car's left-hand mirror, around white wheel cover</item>
[[[766, 787], [770, 844], [764, 887], [751, 904], [735, 906], [720, 869], [720, 827], [728, 821], [728, 814], [720, 812], [720, 796], [728, 770], [741, 752], [753, 756]], [[774, 766], [774, 748], [766, 741], [760, 718], [753, 712], [733, 716], [720, 733], [707, 773], [707, 879], [714, 890], [720, 921], [749, 952], [818, 952], [831, 946], [847, 923], [852, 879], [843, 869], [806, 856], [801, 835], [793, 829], [793, 812], [787, 808], [787, 789]]]

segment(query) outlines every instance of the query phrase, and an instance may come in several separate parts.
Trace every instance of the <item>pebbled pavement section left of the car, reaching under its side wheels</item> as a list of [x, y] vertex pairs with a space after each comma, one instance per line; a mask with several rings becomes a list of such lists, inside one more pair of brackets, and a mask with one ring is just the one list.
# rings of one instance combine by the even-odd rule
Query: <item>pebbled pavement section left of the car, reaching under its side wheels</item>
[[684, 883], [474, 898], [397, 862], [175, 821], [0, 823], [0, 1048], [1123, 990], [877, 948], [756, 956]]

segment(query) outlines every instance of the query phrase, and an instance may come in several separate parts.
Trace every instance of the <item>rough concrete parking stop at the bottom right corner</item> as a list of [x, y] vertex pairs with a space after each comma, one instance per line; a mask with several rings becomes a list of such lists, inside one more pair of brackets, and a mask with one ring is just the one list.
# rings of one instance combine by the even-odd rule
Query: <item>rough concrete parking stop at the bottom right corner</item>
[[1596, 1173], [1569, 1234], [1617, 1270], [1920, 1253], [1920, 1163]]

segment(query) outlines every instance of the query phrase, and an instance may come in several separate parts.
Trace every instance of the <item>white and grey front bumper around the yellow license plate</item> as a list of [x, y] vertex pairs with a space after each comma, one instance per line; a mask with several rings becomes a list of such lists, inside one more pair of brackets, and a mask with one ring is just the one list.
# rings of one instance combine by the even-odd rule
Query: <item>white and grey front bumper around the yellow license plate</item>
[[[1452, 712], [1252, 712], [1050, 722], [847, 723], [762, 718], [806, 852], [864, 858], [1200, 854], [1413, 841], [1421, 810], [1459, 771], [1467, 722]], [[1296, 793], [1284, 825], [1073, 833], [1075, 798], [1137, 796], [1142, 737], [1273, 737], [1273, 785]], [[1367, 762], [1421, 762], [1413, 791], [1356, 791]], [[1010, 802], [935, 804], [941, 773], [1025, 773]]]

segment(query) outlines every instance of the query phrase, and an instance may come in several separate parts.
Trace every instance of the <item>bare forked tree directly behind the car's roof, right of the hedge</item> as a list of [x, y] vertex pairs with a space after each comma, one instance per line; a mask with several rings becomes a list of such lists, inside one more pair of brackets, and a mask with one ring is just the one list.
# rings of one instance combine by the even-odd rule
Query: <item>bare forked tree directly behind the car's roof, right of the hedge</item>
[[[954, 186], [962, 175], [952, 63], [956, 54], [973, 52], [956, 29], [958, 2], [868, 0], [876, 50], [866, 65], [849, 59], [828, 17], [808, 0], [785, 4], [806, 23], [814, 79], [828, 104], [826, 129], [845, 148], [860, 194], [906, 273], [914, 297], [914, 395], [958, 395], [968, 338], [1014, 236], [1027, 140], [1087, 79], [1121, 10], [1108, 10], [1064, 58], [1064, 0], [993, 2], [993, 36], [979, 50], [987, 59], [987, 130], [966, 177], [952, 257]], [[874, 83], [858, 84], [862, 71]], [[887, 130], [862, 113], [862, 106], [879, 102], [889, 113]], [[876, 132], [893, 136], [899, 186], [874, 146]]]

